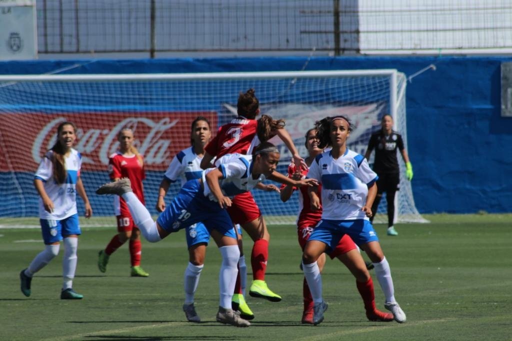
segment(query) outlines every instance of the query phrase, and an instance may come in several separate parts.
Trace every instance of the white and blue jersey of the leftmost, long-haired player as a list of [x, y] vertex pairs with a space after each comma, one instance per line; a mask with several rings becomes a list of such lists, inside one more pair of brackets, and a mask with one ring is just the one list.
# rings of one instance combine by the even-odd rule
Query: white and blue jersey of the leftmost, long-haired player
[[82, 156], [71, 149], [66, 160], [68, 176], [64, 183], [58, 184], [53, 178], [53, 152], [49, 151], [42, 158], [34, 178], [44, 183], [48, 197], [53, 201], [53, 213], [45, 210], [42, 199], [39, 197], [39, 218], [50, 220], [62, 220], [77, 214], [76, 209], [76, 182], [80, 176]]

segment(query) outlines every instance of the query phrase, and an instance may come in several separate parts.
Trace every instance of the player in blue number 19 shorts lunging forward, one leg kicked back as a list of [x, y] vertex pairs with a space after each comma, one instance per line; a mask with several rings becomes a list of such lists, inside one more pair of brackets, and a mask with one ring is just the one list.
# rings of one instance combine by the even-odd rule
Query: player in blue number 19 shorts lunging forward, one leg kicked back
[[248, 327], [250, 323], [231, 309], [240, 250], [233, 223], [225, 208], [231, 206], [231, 197], [251, 190], [265, 179], [298, 186], [314, 183], [310, 179], [292, 180], [274, 172], [279, 157], [278, 149], [264, 142], [254, 148], [252, 155], [230, 154], [220, 158], [216, 162], [218, 168], [209, 168], [202, 173], [200, 179], [187, 181], [156, 222], [132, 193], [129, 179], [105, 184], [96, 193], [121, 196], [128, 204], [142, 235], [150, 242], [158, 242], [169, 233], [202, 222], [222, 254], [217, 321]]

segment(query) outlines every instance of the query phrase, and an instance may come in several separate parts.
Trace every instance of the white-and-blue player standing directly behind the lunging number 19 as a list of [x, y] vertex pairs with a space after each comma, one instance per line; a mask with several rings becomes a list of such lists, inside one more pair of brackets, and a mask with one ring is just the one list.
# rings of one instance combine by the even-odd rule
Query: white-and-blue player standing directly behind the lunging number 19
[[[192, 122], [190, 129], [190, 142], [192, 146], [184, 149], [176, 155], [176, 157], [170, 162], [169, 167], [160, 182], [156, 205], [156, 209], [159, 212], [163, 212], [165, 210], [164, 199], [171, 183], [180, 179], [181, 186], [183, 186], [188, 180], [201, 178], [203, 169], [200, 167], [200, 163], [204, 155], [204, 146], [208, 143], [210, 137], [210, 122], [205, 117], [197, 117]], [[201, 318], [194, 307], [194, 295], [196, 293], [197, 286], [199, 285], [201, 271], [204, 267], [206, 246], [210, 240], [210, 234], [203, 223], [197, 223], [187, 226], [185, 229], [185, 235], [188, 246], [189, 263], [185, 269], [185, 303], [183, 304], [183, 311], [185, 312], [187, 321], [201, 322]], [[243, 256], [240, 257], [239, 264], [242, 269], [245, 268], [245, 260]], [[240, 285], [238, 285], [238, 287], [240, 287]], [[238, 295], [238, 292], [236, 295]], [[237, 302], [239, 304], [238, 309], [242, 312], [240, 315], [242, 318], [254, 318], [254, 314], [252, 314], [252, 311], [247, 306], [243, 295], [242, 297], [238, 297]]]

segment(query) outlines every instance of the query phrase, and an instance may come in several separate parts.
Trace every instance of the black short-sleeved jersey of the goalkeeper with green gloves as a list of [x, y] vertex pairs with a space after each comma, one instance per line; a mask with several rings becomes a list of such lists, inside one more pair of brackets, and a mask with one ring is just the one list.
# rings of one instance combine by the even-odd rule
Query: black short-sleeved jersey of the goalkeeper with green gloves
[[368, 151], [375, 150], [375, 162], [373, 170], [375, 173], [399, 173], [396, 150], [403, 151], [402, 136], [395, 131], [386, 136], [382, 130], [375, 132], [368, 142]]

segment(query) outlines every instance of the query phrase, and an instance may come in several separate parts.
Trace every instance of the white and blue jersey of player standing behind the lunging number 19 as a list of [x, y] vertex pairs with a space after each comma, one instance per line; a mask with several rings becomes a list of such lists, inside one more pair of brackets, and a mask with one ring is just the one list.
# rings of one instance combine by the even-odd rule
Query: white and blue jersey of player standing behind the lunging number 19
[[201, 178], [203, 169], [201, 168], [201, 160], [196, 153], [194, 147], [188, 147], [179, 152], [173, 161], [170, 161], [167, 171], [163, 175], [170, 182], [181, 180], [181, 186], [188, 180]]

